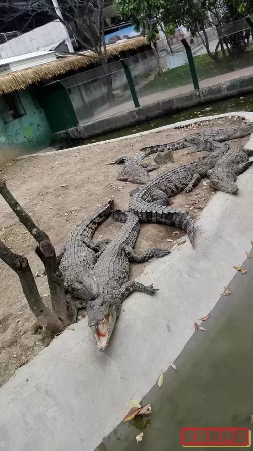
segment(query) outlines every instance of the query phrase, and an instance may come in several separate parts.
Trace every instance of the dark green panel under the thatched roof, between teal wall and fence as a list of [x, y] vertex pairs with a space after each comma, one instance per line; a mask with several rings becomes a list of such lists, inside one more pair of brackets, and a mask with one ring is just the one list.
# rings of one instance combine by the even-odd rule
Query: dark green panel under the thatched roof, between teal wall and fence
[[40, 87], [36, 95], [53, 133], [78, 125], [68, 92], [59, 81]]

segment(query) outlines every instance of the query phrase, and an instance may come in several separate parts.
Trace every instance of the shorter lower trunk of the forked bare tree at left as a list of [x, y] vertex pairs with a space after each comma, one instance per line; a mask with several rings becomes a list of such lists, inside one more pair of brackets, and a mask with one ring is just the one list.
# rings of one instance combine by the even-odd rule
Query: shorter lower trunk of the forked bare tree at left
[[14, 254], [2, 241], [0, 241], [0, 258], [18, 274], [24, 295], [38, 324], [53, 334], [59, 334], [63, 324], [41, 300], [27, 258]]

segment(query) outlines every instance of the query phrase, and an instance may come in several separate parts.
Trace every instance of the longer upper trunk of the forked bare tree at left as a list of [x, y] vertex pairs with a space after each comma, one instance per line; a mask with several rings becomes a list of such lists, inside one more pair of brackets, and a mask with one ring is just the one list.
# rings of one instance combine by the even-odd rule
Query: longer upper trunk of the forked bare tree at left
[[36, 254], [45, 266], [51, 295], [52, 310], [63, 325], [67, 325], [69, 321], [63, 275], [57, 263], [53, 244], [51, 243], [48, 235], [43, 230], [40, 230], [36, 224], [34, 224], [30, 216], [13, 197], [9, 189], [6, 187], [5, 180], [0, 180], [0, 194], [4, 197], [8, 205], [17, 215], [20, 222], [38, 242], [39, 245], [36, 249]]

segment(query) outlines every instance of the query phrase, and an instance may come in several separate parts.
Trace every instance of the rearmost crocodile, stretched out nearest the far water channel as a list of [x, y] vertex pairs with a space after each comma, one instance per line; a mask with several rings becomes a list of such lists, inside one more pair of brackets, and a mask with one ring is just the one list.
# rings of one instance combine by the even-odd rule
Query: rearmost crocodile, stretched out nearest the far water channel
[[253, 133], [253, 122], [245, 122], [245, 124], [240, 126], [213, 127], [199, 130], [199, 132], [185, 136], [178, 141], [143, 147], [140, 152], [144, 152], [146, 155], [147, 152], [165, 152], [167, 150], [184, 149], [185, 147], [193, 147], [192, 152], [201, 152], [203, 150], [201, 145], [203, 141], [224, 142], [231, 139], [243, 138], [244, 136], [250, 135], [250, 133]]

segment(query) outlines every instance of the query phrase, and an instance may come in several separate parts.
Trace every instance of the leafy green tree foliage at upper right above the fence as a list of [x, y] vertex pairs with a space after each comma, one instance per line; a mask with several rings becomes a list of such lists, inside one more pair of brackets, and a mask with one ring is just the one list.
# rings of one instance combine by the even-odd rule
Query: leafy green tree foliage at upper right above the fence
[[[168, 35], [184, 25], [193, 36], [196, 34], [202, 40], [210, 58], [218, 61], [218, 49], [221, 47], [222, 55], [235, 57], [245, 50], [248, 44], [248, 32], [223, 36], [224, 24], [240, 19], [253, 11], [252, 0], [115, 0], [120, 14], [128, 17], [137, 29], [148, 30], [149, 39], [153, 39], [158, 26], [165, 29]], [[164, 25], [163, 25], [164, 24]], [[206, 24], [216, 27], [218, 43], [214, 52], [210, 51], [209, 39], [206, 33]]]

